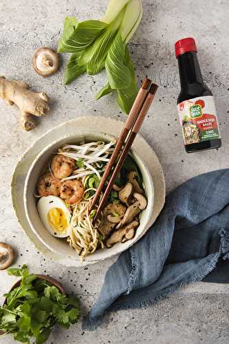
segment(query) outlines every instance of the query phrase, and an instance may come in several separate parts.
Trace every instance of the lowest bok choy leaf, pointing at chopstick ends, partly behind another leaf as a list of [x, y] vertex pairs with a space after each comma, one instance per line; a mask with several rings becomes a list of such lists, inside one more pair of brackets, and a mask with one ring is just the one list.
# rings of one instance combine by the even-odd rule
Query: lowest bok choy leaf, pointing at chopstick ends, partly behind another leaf
[[132, 65], [130, 54], [128, 52], [128, 47], [125, 47], [125, 65], [130, 70], [132, 80], [129, 87], [125, 89], [117, 90], [118, 91], [117, 102], [119, 106], [121, 107], [121, 109], [123, 110], [123, 112], [125, 112], [125, 114], [129, 114], [132, 108], [132, 105], [134, 104], [136, 95], [138, 94], [138, 87], [136, 85], [134, 66]]

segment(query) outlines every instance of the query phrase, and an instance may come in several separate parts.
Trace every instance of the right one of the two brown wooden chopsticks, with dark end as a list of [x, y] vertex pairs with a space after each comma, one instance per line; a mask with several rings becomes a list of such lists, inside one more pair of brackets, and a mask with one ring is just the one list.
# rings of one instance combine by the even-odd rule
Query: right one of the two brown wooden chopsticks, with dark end
[[93, 218], [93, 223], [97, 221], [99, 214], [104, 208], [108, 195], [110, 194], [110, 191], [112, 190], [112, 187], [115, 183], [115, 179], [117, 178], [117, 174], [119, 173], [121, 166], [130, 151], [130, 147], [132, 146], [132, 143], [134, 142], [134, 139], [136, 138], [136, 134], [138, 133], [139, 129], [141, 128], [141, 125], [143, 124], [143, 120], [145, 119], [147, 111], [149, 110], [149, 107], [152, 104], [152, 101], [154, 100], [154, 96], [156, 94], [157, 89], [158, 89], [158, 85], [154, 83], [152, 83], [152, 85], [149, 87], [149, 93], [147, 94], [147, 97], [145, 98], [145, 102], [143, 103], [141, 111], [139, 112], [136, 118], [136, 121], [130, 131], [130, 135], [128, 136], [128, 139], [125, 142], [125, 146], [123, 148], [123, 151], [121, 152], [117, 165], [115, 166], [115, 170], [112, 172], [112, 175], [108, 182], [108, 186], [106, 187], [104, 191], [104, 195], [101, 197], [101, 201], [99, 202], [97, 212], [95, 214], [95, 217]]

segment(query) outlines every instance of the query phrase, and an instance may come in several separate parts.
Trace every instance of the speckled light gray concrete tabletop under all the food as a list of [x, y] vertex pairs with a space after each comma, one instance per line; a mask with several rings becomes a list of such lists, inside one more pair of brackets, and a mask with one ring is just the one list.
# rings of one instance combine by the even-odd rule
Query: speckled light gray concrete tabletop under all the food
[[[16, 222], [10, 204], [10, 175], [16, 160], [47, 129], [77, 116], [101, 114], [112, 118], [119, 112], [112, 96], [95, 101], [94, 94], [104, 85], [104, 73], [82, 76], [68, 87], [62, 85], [62, 67], [51, 78], [40, 78], [32, 69], [32, 54], [40, 46], [56, 48], [66, 15], [78, 19], [101, 18], [108, 1], [0, 1], [0, 75], [25, 80], [34, 89], [51, 96], [50, 114], [30, 133], [21, 130], [18, 111], [0, 100], [0, 241], [17, 248], [17, 264], [29, 263], [34, 272], [60, 278], [68, 292], [80, 295], [84, 313], [91, 307], [112, 259], [88, 268], [65, 268], [40, 255]], [[229, 3], [215, 1], [143, 0], [144, 15], [130, 51], [138, 81], [147, 74], [160, 85], [154, 107], [142, 128], [165, 171], [167, 191], [184, 180], [214, 169], [229, 167]], [[194, 36], [204, 78], [215, 94], [223, 147], [187, 155], [183, 149], [177, 120], [176, 98], [179, 92], [178, 67], [173, 44], [184, 36]], [[0, 272], [0, 294], [6, 292], [12, 278]], [[56, 329], [51, 343], [165, 343], [226, 344], [229, 342], [229, 286], [197, 283], [141, 310], [111, 314], [108, 323], [96, 332], [82, 332], [81, 324], [68, 332]], [[0, 339], [13, 343], [12, 338]]]

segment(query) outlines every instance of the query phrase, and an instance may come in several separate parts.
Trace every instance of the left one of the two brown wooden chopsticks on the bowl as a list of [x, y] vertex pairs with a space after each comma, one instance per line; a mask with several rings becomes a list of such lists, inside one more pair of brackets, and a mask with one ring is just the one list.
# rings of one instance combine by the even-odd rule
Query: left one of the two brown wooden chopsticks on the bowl
[[93, 208], [95, 207], [95, 204], [97, 204], [97, 201], [99, 200], [99, 195], [101, 191], [103, 191], [104, 189], [104, 185], [106, 183], [106, 180], [108, 179], [108, 175], [110, 174], [110, 171], [112, 167], [114, 166], [115, 161], [117, 160], [117, 156], [119, 155], [121, 148], [123, 147], [125, 138], [128, 136], [128, 133], [130, 129], [132, 128], [132, 126], [134, 125], [134, 122], [139, 114], [139, 111], [141, 110], [141, 107], [143, 106], [145, 98], [149, 92], [149, 86], [151, 85], [151, 83], [152, 81], [149, 80], [148, 78], [145, 78], [145, 80], [143, 80], [141, 89], [139, 89], [136, 99], [134, 100], [134, 104], [132, 106], [132, 109], [130, 110], [130, 114], [128, 115], [128, 119], [125, 122], [123, 130], [121, 131], [121, 134], [119, 136], [119, 140], [115, 144], [115, 149], [110, 157], [108, 164], [106, 165], [104, 174], [99, 182], [99, 187], [90, 205], [90, 211], [93, 210]]

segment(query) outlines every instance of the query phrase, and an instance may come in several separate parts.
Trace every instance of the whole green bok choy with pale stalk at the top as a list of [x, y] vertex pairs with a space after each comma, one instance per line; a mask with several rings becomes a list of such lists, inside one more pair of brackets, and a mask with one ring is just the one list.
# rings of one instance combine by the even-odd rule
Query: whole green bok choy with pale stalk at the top
[[128, 114], [138, 87], [127, 43], [138, 28], [142, 13], [142, 0], [110, 0], [102, 21], [79, 23], [75, 17], [67, 17], [58, 44], [58, 52], [71, 53], [64, 84], [85, 72], [95, 75], [105, 68], [108, 80], [96, 98], [115, 92], [117, 103]]

